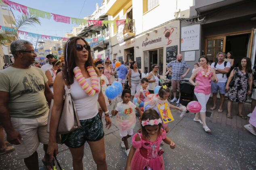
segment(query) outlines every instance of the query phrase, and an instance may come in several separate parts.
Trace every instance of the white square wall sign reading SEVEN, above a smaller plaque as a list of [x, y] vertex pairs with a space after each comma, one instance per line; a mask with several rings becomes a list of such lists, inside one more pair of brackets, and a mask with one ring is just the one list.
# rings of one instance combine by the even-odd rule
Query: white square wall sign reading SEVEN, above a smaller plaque
[[181, 51], [199, 49], [200, 24], [181, 28]]

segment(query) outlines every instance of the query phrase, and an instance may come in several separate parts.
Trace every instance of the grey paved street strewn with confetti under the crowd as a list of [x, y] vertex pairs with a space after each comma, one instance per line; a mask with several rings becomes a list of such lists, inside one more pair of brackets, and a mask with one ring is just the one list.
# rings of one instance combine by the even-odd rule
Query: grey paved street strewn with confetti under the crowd
[[[225, 104], [227, 101], [225, 101]], [[210, 98], [207, 108], [210, 108]], [[218, 102], [217, 102], [218, 106]], [[226, 119], [226, 110], [217, 113], [215, 110], [210, 118], [207, 118], [207, 125], [211, 133], [204, 132], [202, 125], [193, 121], [193, 114], [186, 113], [180, 117], [178, 111], [172, 111], [174, 121], [169, 123], [170, 132], [167, 136], [176, 143], [176, 148], [171, 150], [164, 145], [164, 161], [166, 170], [255, 170], [256, 169], [256, 136], [243, 128], [248, 122], [236, 116], [234, 103], [233, 119]], [[224, 108], [225, 109], [225, 108]], [[111, 106], [109, 107], [111, 110]], [[249, 111], [250, 105], [245, 105], [244, 111]], [[210, 111], [208, 109], [208, 111]], [[103, 124], [105, 122], [103, 121]], [[134, 132], [139, 129], [137, 122]], [[112, 127], [105, 131], [105, 150], [109, 170], [123, 170], [126, 165], [127, 156], [120, 146], [119, 130], [116, 121], [112, 119]], [[131, 145], [131, 139], [128, 140]], [[42, 145], [38, 148], [40, 170], [45, 170], [41, 159], [44, 155]], [[72, 158], [65, 145], [59, 145], [59, 161], [65, 170], [72, 169]], [[1, 170], [25, 170], [23, 160], [15, 152], [0, 156]], [[88, 144], [84, 149], [84, 169], [96, 170], [96, 165]]]

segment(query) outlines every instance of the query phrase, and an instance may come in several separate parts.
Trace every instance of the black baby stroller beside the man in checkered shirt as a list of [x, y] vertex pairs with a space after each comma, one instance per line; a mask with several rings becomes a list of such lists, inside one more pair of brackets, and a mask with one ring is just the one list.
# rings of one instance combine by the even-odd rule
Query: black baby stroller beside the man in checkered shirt
[[180, 104], [187, 106], [194, 98], [194, 86], [189, 82], [189, 78], [180, 80]]

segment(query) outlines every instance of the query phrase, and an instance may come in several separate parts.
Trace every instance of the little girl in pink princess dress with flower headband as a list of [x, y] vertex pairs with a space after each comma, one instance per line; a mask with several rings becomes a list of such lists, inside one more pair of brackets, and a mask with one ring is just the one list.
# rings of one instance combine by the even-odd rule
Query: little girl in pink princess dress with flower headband
[[143, 113], [139, 131], [141, 132], [132, 137], [126, 170], [143, 170], [145, 167], [164, 170], [163, 152], [159, 150], [159, 145], [163, 140], [174, 149], [175, 143], [166, 137], [166, 131], [162, 129], [162, 119], [154, 109], [148, 109]]

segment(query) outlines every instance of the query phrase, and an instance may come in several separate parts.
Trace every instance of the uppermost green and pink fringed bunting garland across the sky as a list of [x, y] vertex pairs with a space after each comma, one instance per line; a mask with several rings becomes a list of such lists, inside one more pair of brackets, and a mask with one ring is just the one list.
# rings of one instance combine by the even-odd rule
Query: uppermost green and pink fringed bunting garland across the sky
[[[69, 16], [63, 16], [63, 15], [58, 15], [58, 14], [53, 14], [50, 12], [44, 12], [42, 10], [38, 10], [38, 9], [34, 9], [34, 8], [30, 8], [21, 4], [17, 4], [15, 2], [9, 1], [9, 0], [0, 0], [0, 2], [4, 2], [5, 4], [7, 4], [8, 6], [10, 6], [10, 8], [13, 8], [14, 10], [18, 10], [19, 12], [23, 12], [23, 14], [28, 15], [33, 14], [37, 17], [40, 18], [46, 18], [46, 19], [50, 19], [53, 16], [53, 20], [55, 20], [55, 22], [59, 22], [59, 23], [66, 23], [66, 24], [70, 24], [70, 23], [76, 23], [77, 25], [84, 25], [84, 26], [107, 26], [107, 25], [113, 25], [115, 26], [119, 26], [119, 25], [124, 25], [125, 20], [121, 19], [121, 20], [86, 20], [86, 19], [80, 19], [80, 18], [72, 18]], [[126, 22], [128, 22], [128, 20], [126, 19]]]

